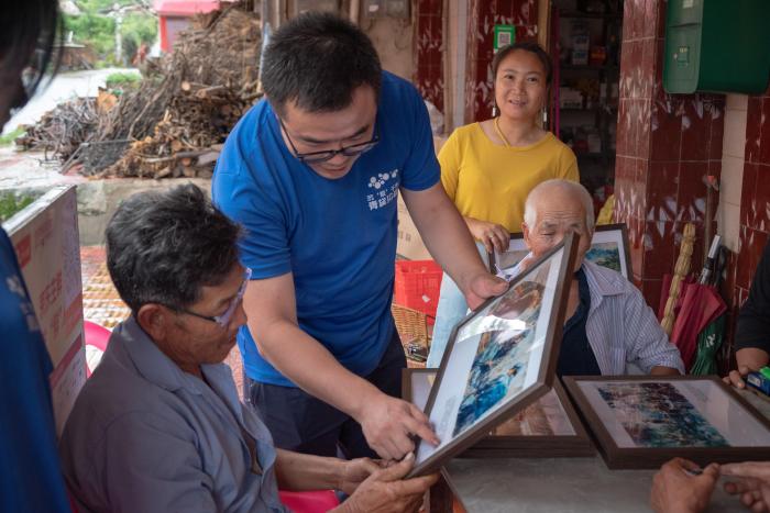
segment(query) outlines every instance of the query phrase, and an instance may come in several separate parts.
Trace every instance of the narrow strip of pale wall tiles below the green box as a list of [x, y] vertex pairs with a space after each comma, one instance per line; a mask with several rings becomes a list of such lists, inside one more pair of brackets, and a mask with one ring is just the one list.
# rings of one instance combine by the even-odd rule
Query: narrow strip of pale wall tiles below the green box
[[727, 94], [725, 136], [722, 143], [722, 183], [717, 233], [730, 250], [738, 250], [740, 223], [740, 191], [744, 179], [746, 150], [746, 94]]

